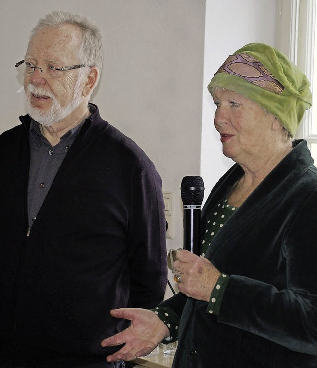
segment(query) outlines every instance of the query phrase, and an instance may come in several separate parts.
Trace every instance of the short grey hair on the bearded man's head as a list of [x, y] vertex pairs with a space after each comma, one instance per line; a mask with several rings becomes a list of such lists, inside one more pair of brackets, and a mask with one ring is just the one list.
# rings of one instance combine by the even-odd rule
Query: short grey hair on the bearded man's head
[[77, 25], [82, 32], [82, 42], [79, 57], [83, 64], [96, 66], [100, 72], [103, 64], [103, 37], [100, 28], [86, 16], [67, 11], [53, 11], [40, 19], [31, 31], [31, 38], [35, 32], [44, 26], [58, 27], [62, 24]]

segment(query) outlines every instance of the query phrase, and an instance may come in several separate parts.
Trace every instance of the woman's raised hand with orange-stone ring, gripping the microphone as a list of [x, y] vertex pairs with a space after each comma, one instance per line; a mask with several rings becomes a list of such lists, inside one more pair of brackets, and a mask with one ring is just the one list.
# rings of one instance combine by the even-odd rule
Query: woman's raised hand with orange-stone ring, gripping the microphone
[[177, 270], [175, 275], [180, 276], [177, 284], [179, 291], [194, 299], [209, 302], [221, 272], [207, 258], [184, 249], [177, 251], [174, 267]]

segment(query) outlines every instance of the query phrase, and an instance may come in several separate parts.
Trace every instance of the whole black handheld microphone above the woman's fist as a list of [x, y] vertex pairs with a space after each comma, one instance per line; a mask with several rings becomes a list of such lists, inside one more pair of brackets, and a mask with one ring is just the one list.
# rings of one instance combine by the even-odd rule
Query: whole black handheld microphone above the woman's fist
[[200, 209], [204, 198], [204, 181], [200, 176], [184, 176], [180, 189], [184, 205], [184, 249], [199, 255]]

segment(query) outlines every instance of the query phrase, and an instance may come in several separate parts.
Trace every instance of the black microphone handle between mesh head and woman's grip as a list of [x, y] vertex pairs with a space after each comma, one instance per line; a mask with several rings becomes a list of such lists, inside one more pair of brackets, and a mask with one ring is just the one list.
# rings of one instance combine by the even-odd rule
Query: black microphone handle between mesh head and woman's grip
[[184, 249], [200, 254], [200, 205], [184, 205]]

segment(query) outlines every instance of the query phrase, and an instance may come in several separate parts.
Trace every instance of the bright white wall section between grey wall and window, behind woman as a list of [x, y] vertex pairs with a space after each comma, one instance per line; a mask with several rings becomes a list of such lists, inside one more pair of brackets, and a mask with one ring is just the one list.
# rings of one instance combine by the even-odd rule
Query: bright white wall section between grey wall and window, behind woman
[[234, 51], [250, 42], [275, 46], [276, 0], [207, 0], [202, 109], [201, 176], [205, 198], [233, 161], [222, 155], [213, 126], [214, 105], [207, 90], [213, 74]]

